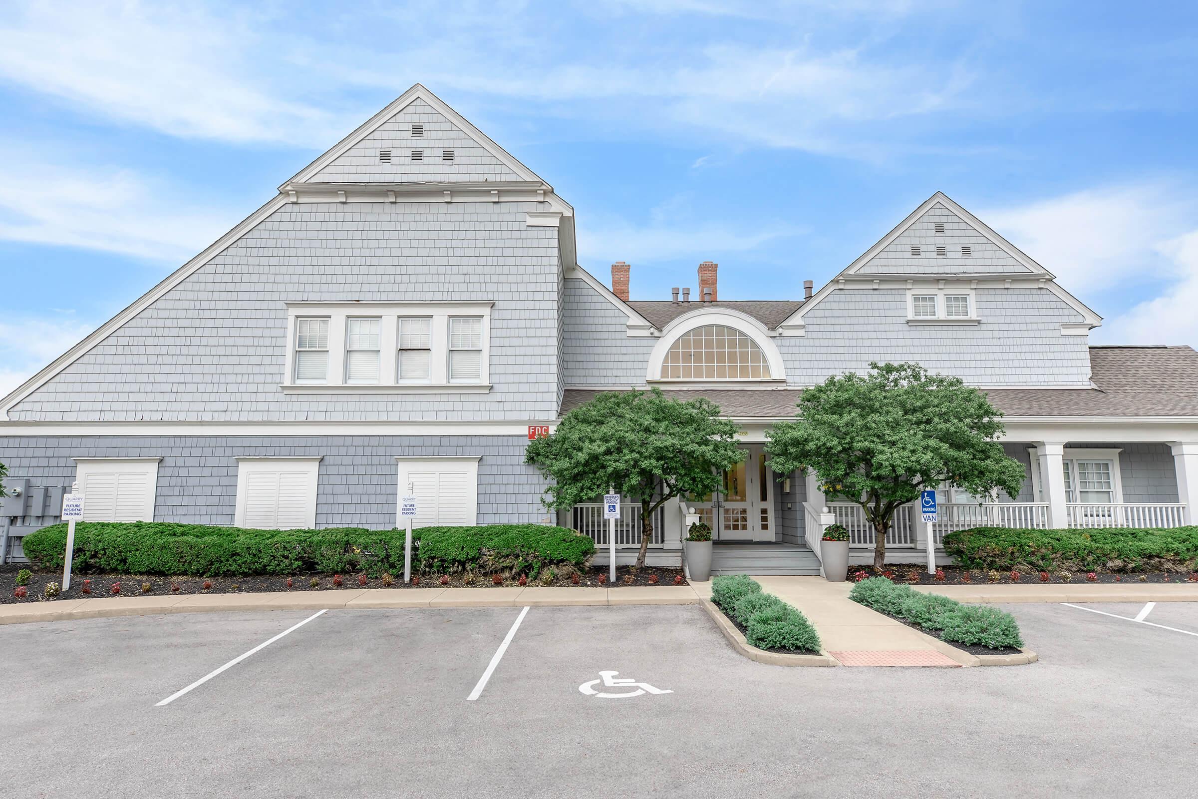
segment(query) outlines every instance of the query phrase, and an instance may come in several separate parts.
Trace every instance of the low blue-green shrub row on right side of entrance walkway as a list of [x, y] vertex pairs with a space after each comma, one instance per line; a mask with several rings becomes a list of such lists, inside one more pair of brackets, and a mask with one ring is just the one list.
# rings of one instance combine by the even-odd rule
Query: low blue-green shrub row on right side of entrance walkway
[[879, 613], [916, 624], [950, 643], [1005, 649], [1022, 647], [1015, 617], [996, 607], [962, 605], [955, 599], [925, 594], [885, 577], [869, 577], [853, 586], [849, 599]]

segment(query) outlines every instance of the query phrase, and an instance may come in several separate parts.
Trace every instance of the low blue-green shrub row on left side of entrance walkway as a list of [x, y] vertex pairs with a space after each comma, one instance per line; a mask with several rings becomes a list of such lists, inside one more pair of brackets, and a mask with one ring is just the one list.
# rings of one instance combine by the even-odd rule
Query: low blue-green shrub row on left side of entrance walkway
[[712, 601], [745, 630], [745, 640], [760, 649], [819, 652], [819, 635], [807, 618], [748, 575], [712, 580]]

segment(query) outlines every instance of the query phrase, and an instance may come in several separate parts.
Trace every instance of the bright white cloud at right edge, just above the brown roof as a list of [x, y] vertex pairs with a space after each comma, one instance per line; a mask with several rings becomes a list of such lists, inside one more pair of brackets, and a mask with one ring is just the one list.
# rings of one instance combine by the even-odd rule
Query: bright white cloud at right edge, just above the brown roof
[[[1099, 328], [1112, 344], [1188, 344], [1198, 347], [1198, 230], [1161, 246], [1181, 279], [1160, 297], [1135, 305]], [[1103, 328], [1106, 328], [1103, 331]]]

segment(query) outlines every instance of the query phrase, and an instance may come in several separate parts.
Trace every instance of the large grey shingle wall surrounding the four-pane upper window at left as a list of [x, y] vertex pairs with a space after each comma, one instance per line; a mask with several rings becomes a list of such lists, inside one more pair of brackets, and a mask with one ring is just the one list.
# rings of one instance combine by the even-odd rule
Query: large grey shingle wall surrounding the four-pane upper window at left
[[[536, 202], [286, 205], [19, 402], [14, 420], [551, 419], [556, 228]], [[489, 394], [285, 395], [290, 301], [494, 301]]]

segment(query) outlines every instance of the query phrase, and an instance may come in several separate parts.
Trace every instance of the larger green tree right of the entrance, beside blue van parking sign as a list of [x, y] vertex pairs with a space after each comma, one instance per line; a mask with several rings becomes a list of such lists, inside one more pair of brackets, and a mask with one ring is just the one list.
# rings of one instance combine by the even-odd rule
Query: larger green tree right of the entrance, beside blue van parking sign
[[942, 483], [974, 496], [1015, 496], [1023, 466], [1003, 453], [998, 411], [957, 377], [914, 363], [870, 364], [803, 392], [794, 422], [775, 424], [766, 452], [775, 474], [811, 468], [824, 494], [855, 502], [887, 558], [895, 508]]

